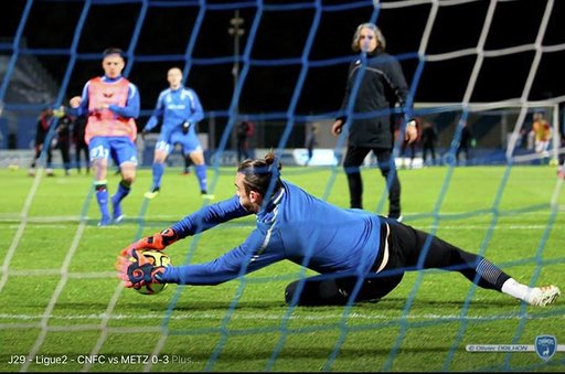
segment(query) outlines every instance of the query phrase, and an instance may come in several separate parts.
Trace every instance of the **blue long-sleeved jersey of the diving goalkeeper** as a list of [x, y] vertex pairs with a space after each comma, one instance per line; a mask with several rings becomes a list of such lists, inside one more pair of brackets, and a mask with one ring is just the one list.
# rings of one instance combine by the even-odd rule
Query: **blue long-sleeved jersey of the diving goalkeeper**
[[[250, 214], [234, 196], [185, 216], [172, 228], [185, 237]], [[242, 245], [210, 263], [168, 267], [163, 281], [217, 285], [284, 259], [320, 274], [366, 274], [377, 256], [377, 215], [331, 205], [286, 181], [256, 221]]]

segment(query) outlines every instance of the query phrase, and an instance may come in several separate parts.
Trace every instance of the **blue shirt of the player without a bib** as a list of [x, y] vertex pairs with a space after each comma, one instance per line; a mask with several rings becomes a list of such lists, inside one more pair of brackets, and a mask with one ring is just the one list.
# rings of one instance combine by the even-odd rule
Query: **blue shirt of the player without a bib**
[[203, 118], [204, 109], [193, 89], [186, 87], [168, 88], [159, 94], [153, 114], [143, 130], [150, 131], [161, 121], [161, 133], [167, 135], [174, 130], [182, 130], [182, 125], [190, 122], [189, 130], [194, 132], [193, 125]]

